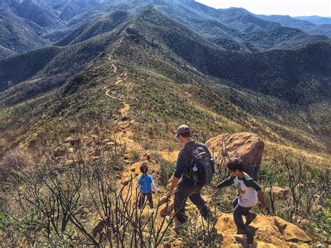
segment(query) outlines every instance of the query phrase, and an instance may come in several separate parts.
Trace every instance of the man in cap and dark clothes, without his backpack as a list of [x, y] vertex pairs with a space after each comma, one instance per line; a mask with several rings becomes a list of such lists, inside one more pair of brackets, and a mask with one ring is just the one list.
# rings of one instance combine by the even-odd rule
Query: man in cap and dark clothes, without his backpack
[[175, 173], [172, 177], [172, 183], [170, 189], [168, 191], [167, 196], [170, 197], [174, 194], [174, 189], [177, 186], [179, 180], [179, 184], [177, 190], [175, 191], [175, 200], [174, 200], [174, 211], [176, 213], [175, 218], [175, 231], [179, 231], [179, 228], [186, 221], [185, 217], [185, 203], [187, 198], [191, 200], [191, 202], [196, 205], [199, 209], [200, 214], [205, 219], [211, 219], [213, 222], [215, 221], [212, 216], [212, 212], [210, 212], [209, 208], [206, 205], [205, 200], [201, 197], [201, 189], [202, 185], [194, 184], [189, 178], [187, 169], [189, 167], [189, 152], [190, 150], [196, 149], [196, 147], [203, 147], [205, 152], [210, 155], [210, 152], [207, 146], [203, 143], [197, 143], [191, 138], [191, 130], [189, 126], [181, 125], [177, 128], [177, 134], [175, 136], [182, 143], [184, 143], [184, 148], [179, 152], [177, 165], [175, 169]]

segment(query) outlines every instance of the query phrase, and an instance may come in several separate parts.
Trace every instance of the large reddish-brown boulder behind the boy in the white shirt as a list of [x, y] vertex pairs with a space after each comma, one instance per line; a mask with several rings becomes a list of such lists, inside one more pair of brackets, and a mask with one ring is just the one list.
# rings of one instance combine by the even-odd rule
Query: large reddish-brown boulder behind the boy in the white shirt
[[216, 161], [227, 162], [239, 158], [244, 163], [244, 171], [257, 180], [265, 144], [254, 133], [224, 133], [207, 141], [209, 151]]

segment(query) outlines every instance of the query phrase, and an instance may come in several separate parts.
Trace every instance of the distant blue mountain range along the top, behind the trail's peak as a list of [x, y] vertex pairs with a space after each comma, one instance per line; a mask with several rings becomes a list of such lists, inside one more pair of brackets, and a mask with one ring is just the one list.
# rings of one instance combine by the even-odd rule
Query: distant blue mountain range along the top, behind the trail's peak
[[57, 43], [89, 20], [114, 10], [136, 15], [148, 4], [226, 50], [261, 52], [328, 41], [331, 24], [288, 16], [254, 15], [242, 8], [219, 9], [192, 0], [49, 1], [0, 3], [0, 58]]

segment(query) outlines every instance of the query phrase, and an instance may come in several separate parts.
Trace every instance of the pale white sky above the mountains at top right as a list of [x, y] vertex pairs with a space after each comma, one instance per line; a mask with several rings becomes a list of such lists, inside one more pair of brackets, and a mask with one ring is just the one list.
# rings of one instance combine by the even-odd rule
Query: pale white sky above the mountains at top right
[[196, 0], [213, 8], [246, 8], [261, 15], [331, 16], [330, 0]]

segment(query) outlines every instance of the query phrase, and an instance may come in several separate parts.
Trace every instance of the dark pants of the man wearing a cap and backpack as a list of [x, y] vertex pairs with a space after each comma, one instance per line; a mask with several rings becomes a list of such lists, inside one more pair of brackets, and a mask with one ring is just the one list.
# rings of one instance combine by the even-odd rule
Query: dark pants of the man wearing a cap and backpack
[[208, 217], [212, 217], [212, 213], [209, 211], [205, 200], [201, 197], [201, 189], [203, 187], [198, 185], [195, 187], [184, 187], [182, 185], [178, 185], [177, 191], [175, 193], [174, 200], [174, 211], [177, 213], [177, 219], [182, 224], [186, 221], [185, 217], [185, 203], [187, 198], [191, 200], [191, 202], [198, 207], [200, 214], [207, 219]]

